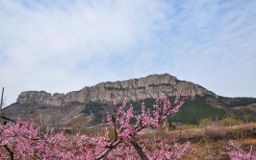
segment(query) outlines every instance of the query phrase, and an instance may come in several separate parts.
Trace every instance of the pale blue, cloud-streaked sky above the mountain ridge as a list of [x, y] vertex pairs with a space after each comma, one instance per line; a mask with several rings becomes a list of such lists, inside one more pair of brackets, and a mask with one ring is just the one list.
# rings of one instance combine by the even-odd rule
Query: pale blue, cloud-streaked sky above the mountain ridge
[[0, 87], [67, 93], [168, 73], [256, 98], [255, 0], [0, 0]]

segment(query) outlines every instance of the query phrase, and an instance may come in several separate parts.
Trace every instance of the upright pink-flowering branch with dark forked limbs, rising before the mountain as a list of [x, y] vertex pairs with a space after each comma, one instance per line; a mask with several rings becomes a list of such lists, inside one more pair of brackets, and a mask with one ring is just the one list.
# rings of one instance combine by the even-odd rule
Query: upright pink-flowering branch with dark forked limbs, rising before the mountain
[[[136, 149], [142, 160], [148, 159], [145, 152], [141, 149], [141, 146], [137, 143], [136, 135], [145, 128], [156, 128], [161, 124], [165, 126], [167, 116], [178, 112], [180, 106], [185, 103], [185, 100], [188, 98], [184, 97], [181, 99], [181, 97], [178, 96], [170, 103], [165, 95], [159, 98], [151, 95], [150, 97], [154, 98], [156, 102], [156, 104], [153, 105], [154, 110], [152, 114], [150, 108], [145, 109], [144, 102], [141, 103], [140, 115], [134, 115], [132, 104], [130, 108], [125, 111], [124, 108], [127, 103], [126, 98], [120, 107], [117, 107], [116, 99], [112, 102], [114, 113], [108, 115], [108, 122], [114, 128], [115, 139], [105, 146], [107, 149], [105, 149], [97, 159], [107, 156], [112, 149], [115, 149], [115, 147], [121, 143], [130, 143], [134, 149]], [[135, 125], [131, 123], [131, 118], [136, 119]], [[117, 127], [117, 125], [119, 125], [119, 127]]]

